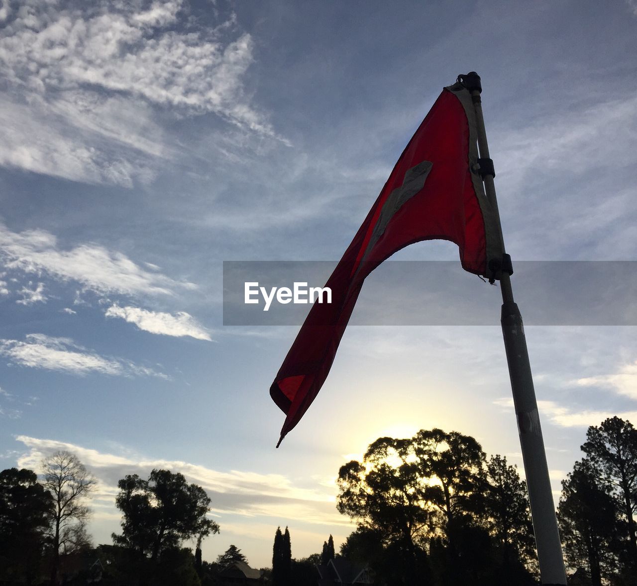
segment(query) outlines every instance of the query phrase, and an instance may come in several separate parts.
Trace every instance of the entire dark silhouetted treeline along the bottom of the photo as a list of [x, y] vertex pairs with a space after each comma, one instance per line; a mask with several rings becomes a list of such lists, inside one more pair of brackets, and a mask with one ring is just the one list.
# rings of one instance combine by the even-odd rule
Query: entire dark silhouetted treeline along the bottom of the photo
[[[557, 519], [569, 575], [592, 586], [637, 583], [637, 430], [619, 417], [591, 426], [583, 457], [562, 481]], [[93, 547], [87, 503], [96, 480], [69, 452], [38, 471], [0, 472], [0, 585], [211, 586], [229, 569], [273, 586], [314, 586], [329, 564], [368, 571], [377, 586], [517, 586], [538, 583], [526, 483], [503, 456], [441, 429], [378, 438], [341, 466], [338, 510], [357, 528], [334, 551], [292, 558], [276, 529], [272, 568], [249, 568], [234, 545], [215, 562], [201, 542], [218, 533], [210, 498], [180, 473], [153, 470], [118, 482], [122, 530]], [[184, 547], [196, 542], [194, 552]], [[234, 571], [234, 570], [233, 570]], [[576, 576], [575, 576], [576, 575]], [[575, 583], [575, 582], [573, 582]]]

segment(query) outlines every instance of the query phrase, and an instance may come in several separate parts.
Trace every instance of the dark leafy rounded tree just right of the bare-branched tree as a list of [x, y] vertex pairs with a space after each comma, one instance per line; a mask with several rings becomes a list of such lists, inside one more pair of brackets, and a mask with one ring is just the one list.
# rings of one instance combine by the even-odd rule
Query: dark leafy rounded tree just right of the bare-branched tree
[[210, 510], [206, 491], [188, 484], [180, 473], [153, 470], [148, 480], [127, 475], [117, 486], [115, 504], [124, 520], [122, 534], [113, 534], [113, 542], [138, 557], [157, 562], [184, 540], [219, 533], [218, 524], [206, 517]]

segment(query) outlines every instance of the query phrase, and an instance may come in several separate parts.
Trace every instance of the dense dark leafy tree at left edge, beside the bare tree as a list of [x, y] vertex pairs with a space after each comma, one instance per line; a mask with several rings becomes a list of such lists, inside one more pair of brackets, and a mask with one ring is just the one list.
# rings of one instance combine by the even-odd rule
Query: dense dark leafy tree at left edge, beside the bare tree
[[34, 471], [0, 472], [0, 583], [31, 584], [38, 578], [52, 513], [51, 493]]

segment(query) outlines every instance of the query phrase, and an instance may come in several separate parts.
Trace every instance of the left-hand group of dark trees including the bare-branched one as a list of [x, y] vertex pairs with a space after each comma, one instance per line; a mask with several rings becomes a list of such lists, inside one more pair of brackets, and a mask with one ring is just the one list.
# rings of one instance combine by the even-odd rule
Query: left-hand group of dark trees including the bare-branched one
[[[203, 488], [169, 470], [122, 478], [122, 532], [94, 548], [85, 524], [95, 485], [69, 452], [43, 461], [40, 481], [25, 468], [0, 472], [0, 584], [201, 584], [201, 540], [219, 531]], [[197, 540], [195, 555], [182, 547], [187, 540]]]

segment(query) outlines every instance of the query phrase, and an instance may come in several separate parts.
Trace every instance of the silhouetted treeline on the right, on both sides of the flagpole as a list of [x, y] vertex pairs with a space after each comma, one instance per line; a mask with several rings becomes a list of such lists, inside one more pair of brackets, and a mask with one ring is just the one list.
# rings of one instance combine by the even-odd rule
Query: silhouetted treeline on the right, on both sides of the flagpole
[[[582, 584], [634, 585], [637, 431], [612, 417], [586, 437], [557, 508], [568, 573]], [[357, 521], [341, 555], [373, 569], [376, 584], [538, 583], [526, 483], [470, 436], [378, 438], [341, 467], [338, 486], [338, 510]]]

